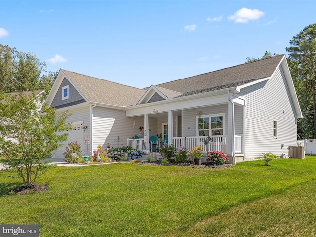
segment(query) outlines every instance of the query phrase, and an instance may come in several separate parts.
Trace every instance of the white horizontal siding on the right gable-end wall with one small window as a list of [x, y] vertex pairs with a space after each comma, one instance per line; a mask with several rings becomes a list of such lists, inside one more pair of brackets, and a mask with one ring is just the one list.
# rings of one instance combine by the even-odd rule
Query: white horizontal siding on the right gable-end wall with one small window
[[[273, 78], [249, 86], [238, 94], [246, 97], [245, 156], [256, 158], [262, 152], [281, 155], [296, 142], [296, 114], [280, 66]], [[283, 114], [283, 109], [285, 113]], [[277, 138], [273, 138], [273, 120], [277, 121]]]

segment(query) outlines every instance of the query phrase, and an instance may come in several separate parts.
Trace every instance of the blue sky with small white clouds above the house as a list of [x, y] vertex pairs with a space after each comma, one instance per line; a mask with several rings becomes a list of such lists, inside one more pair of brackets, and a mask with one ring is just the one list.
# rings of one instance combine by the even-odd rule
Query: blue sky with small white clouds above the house
[[316, 0], [0, 0], [0, 44], [48, 71], [144, 88], [286, 54], [315, 9]]

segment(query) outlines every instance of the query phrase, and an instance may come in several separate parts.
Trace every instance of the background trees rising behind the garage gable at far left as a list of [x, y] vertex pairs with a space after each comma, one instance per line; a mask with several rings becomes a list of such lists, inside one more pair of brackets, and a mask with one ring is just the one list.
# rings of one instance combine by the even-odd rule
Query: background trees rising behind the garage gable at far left
[[0, 44], [0, 92], [44, 89], [48, 94], [56, 75], [34, 54]]

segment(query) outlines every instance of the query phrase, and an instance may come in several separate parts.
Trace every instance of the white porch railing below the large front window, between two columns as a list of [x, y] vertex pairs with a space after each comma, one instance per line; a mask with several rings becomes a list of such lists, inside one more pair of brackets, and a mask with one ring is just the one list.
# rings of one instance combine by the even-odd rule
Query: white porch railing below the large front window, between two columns
[[206, 145], [205, 141], [208, 139], [208, 136], [199, 136], [199, 137], [174, 137], [173, 144], [175, 147], [186, 146], [188, 149], [200, 145], [203, 148], [203, 152], [207, 151], [223, 151], [224, 145], [226, 145], [225, 136], [211, 136], [211, 140]]

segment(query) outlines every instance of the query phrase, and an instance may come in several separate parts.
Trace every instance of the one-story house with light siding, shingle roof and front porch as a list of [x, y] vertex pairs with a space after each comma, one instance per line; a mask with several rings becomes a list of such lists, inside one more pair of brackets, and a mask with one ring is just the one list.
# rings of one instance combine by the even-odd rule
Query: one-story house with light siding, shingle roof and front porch
[[162, 133], [176, 147], [225, 150], [231, 163], [280, 156], [296, 144], [302, 118], [284, 54], [144, 89], [61, 69], [46, 103], [69, 110], [67, 142], [80, 142], [85, 154], [108, 143], [150, 149], [150, 137]]

